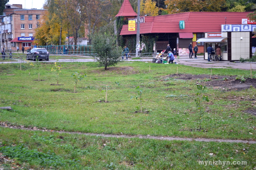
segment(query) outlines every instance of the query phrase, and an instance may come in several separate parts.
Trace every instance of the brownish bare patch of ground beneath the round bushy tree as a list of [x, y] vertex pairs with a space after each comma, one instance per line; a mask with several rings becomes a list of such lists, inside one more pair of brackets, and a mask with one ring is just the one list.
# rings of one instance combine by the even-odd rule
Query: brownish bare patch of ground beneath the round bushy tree
[[131, 66], [122, 66], [122, 67], [108, 67], [107, 70], [100, 69], [100, 70], [93, 70], [92, 72], [96, 73], [109, 73], [109, 72], [114, 72], [116, 74], [123, 74], [123, 75], [129, 75], [129, 74], [136, 74], [139, 71], [134, 70], [133, 67]]

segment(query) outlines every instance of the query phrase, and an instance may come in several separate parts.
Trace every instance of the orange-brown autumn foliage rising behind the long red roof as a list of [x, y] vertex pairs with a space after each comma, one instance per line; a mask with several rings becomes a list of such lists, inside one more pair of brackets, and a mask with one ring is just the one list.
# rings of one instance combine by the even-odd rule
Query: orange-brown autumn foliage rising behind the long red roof
[[225, 0], [165, 0], [169, 14], [182, 12], [218, 12], [225, 8]]

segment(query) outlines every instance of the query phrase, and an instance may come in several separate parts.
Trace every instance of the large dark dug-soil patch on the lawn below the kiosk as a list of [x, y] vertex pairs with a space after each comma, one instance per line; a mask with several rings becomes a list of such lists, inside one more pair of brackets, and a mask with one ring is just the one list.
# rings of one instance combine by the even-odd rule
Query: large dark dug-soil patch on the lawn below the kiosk
[[218, 89], [229, 89], [229, 90], [245, 90], [250, 87], [256, 88], [256, 78], [246, 78], [245, 82], [241, 82], [241, 80], [236, 80], [237, 76], [217, 76], [212, 75], [210, 79], [210, 75], [192, 75], [192, 74], [173, 74], [166, 78], [176, 78], [182, 80], [197, 80], [197, 83], [202, 83], [203, 85], [212, 86]]

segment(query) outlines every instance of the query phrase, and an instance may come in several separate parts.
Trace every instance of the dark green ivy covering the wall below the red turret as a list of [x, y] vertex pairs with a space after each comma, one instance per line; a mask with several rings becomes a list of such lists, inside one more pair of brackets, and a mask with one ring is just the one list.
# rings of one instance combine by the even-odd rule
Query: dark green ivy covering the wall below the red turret
[[[124, 48], [127, 46], [130, 53], [136, 52], [136, 34], [133, 35], [120, 35], [123, 25], [128, 24], [128, 20], [124, 20], [124, 17], [116, 17], [116, 29], [117, 29], [117, 45]], [[153, 46], [156, 39], [154, 35], [142, 34], [140, 35], [140, 47], [141, 43], [144, 43], [145, 48], [142, 53], [153, 53]]]

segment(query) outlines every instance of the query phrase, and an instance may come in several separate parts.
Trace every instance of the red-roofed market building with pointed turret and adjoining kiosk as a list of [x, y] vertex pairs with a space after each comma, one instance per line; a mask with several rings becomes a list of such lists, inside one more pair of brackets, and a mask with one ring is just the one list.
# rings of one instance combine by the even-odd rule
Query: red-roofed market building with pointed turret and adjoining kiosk
[[[124, 16], [137, 22], [137, 15], [129, 4], [129, 0], [124, 0], [116, 17]], [[129, 9], [130, 13], [125, 13], [125, 9]], [[166, 49], [167, 44], [170, 44], [172, 49], [177, 49], [179, 55], [189, 55], [188, 46], [192, 42], [193, 47], [198, 46], [198, 53], [204, 53], [205, 59], [208, 57], [205, 54], [206, 48], [211, 44], [215, 49], [221, 47], [223, 60], [239, 60], [240, 57], [252, 57], [252, 45], [256, 42], [256, 38], [252, 38], [256, 22], [247, 17], [249, 13], [184, 12], [155, 17], [142, 16], [140, 34], [156, 37], [152, 49], [155, 52]], [[134, 31], [129, 31], [128, 25], [123, 25], [120, 35], [125, 37], [136, 33], [137, 24]]]

